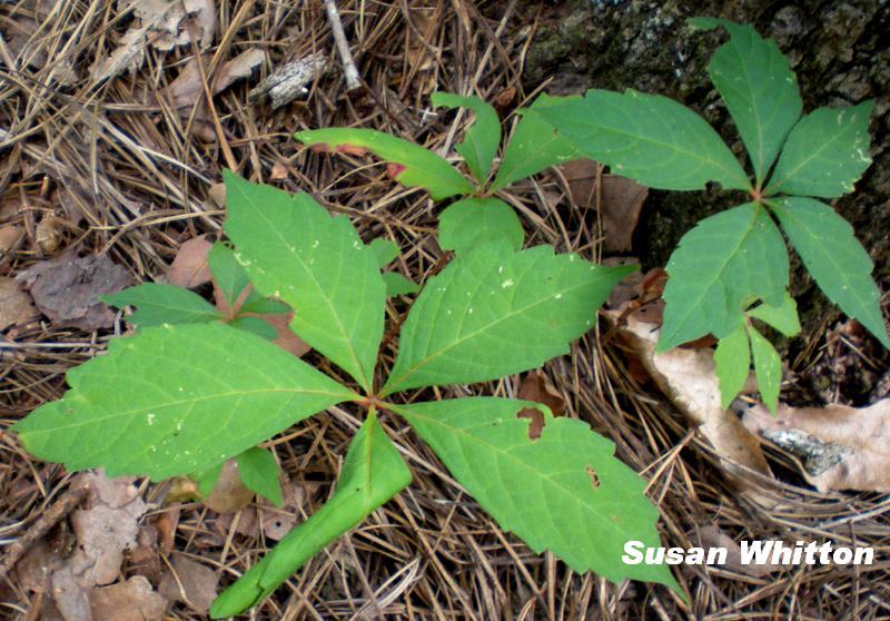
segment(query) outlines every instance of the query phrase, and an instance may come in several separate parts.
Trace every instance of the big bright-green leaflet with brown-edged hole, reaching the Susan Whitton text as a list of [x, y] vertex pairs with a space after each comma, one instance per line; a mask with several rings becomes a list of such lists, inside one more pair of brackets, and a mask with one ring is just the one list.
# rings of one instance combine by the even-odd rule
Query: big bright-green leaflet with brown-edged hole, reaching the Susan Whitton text
[[625, 564], [624, 544], [659, 545], [659, 512], [645, 481], [614, 457], [614, 444], [583, 422], [544, 413], [530, 438], [517, 417], [538, 404], [469, 397], [397, 405], [451, 473], [505, 530], [535, 552], [552, 550], [578, 573], [660, 582], [681, 593], [666, 565]]

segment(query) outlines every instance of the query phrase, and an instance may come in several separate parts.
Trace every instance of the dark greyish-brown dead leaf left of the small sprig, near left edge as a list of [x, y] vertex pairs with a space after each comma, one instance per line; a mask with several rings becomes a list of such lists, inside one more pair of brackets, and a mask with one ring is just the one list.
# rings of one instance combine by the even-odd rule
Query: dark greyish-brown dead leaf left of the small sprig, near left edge
[[71, 253], [40, 262], [17, 279], [50, 321], [83, 329], [110, 326], [115, 314], [99, 296], [117, 293], [131, 282], [127, 270], [107, 255], [76, 257]]

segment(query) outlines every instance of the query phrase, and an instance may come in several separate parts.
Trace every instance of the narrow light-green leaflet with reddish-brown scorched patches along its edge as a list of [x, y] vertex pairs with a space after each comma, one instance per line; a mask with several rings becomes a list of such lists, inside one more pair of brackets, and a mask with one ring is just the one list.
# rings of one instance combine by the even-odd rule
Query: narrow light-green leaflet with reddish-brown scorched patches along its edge
[[328, 128], [298, 131], [294, 138], [315, 149], [363, 155], [370, 151], [386, 160], [389, 176], [409, 188], [424, 188], [433, 200], [475, 188], [444, 158], [414, 142], [374, 129]]

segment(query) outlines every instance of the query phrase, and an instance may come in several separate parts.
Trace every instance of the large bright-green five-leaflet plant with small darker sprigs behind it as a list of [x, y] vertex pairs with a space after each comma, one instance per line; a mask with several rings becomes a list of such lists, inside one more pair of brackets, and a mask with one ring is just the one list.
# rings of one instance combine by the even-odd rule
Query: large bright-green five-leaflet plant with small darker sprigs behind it
[[[71, 369], [63, 398], [12, 427], [28, 451], [69, 470], [105, 467], [109, 476], [191, 475], [205, 490], [236, 457], [245, 483], [280, 502], [275, 456], [257, 446], [337, 404], [363, 407], [367, 415], [336, 493], [217, 598], [214, 618], [259, 603], [411, 482], [379, 421], [389, 414], [407, 422], [479, 505], [535, 552], [552, 550], [578, 572], [680, 592], [664, 565], [621, 561], [629, 540], [657, 545], [657, 511], [645, 482], [585, 423], [495, 396], [394, 398], [494, 381], [565, 354], [626, 268], [550, 246], [521, 250], [514, 240], [462, 248], [417, 295], [389, 366], [390, 358], [378, 358], [387, 295], [380, 268], [397, 248], [365, 245], [346, 217], [330, 217], [306, 194], [233, 174], [225, 181], [225, 233], [235, 249], [217, 245], [209, 260], [229, 312], [165, 285], [109, 298], [138, 307], [129, 316], [137, 333]], [[339, 371], [314, 368], [273, 345], [265, 322], [247, 321], [284, 310], [293, 310], [293, 329]], [[520, 416], [528, 407], [541, 412], [540, 433]]]

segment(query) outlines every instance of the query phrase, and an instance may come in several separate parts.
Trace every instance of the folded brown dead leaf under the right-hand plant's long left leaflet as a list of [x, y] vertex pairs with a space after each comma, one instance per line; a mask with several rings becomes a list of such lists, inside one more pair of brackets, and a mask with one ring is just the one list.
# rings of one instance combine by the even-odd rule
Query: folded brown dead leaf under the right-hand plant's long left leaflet
[[[597, 166], [590, 159], [577, 159], [560, 167], [568, 184], [573, 205], [595, 207]], [[609, 252], [627, 252], [631, 249], [633, 231], [649, 196], [649, 188], [616, 175], [600, 175], [600, 184], [603, 246]]]

